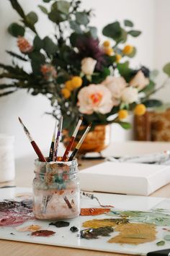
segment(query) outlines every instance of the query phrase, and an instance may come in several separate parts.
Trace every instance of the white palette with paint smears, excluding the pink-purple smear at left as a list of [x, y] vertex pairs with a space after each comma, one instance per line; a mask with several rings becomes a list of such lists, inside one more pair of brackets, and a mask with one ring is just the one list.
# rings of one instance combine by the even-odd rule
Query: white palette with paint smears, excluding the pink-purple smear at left
[[[31, 189], [19, 187], [0, 189], [0, 201], [14, 200], [16, 195], [24, 196], [30, 192]], [[169, 239], [165, 239], [170, 237], [170, 199], [103, 193], [94, 195], [103, 205], [115, 205], [115, 208], [97, 216], [79, 216], [66, 220], [68, 223], [60, 220], [61, 223], [57, 223], [59, 225], [52, 225], [51, 222], [55, 221], [31, 218], [17, 226], [1, 226], [0, 239], [133, 255], [147, 255], [151, 251], [170, 248]], [[21, 197], [18, 198], [21, 200]], [[96, 209], [99, 204], [97, 200], [82, 197], [81, 208]], [[145, 211], [149, 212], [148, 216]], [[155, 217], [159, 226], [153, 224]], [[143, 223], [143, 220], [148, 220], [148, 223]], [[139, 223], [138, 229], [136, 221]], [[167, 226], [161, 226], [161, 223]], [[156, 243], [162, 240], [164, 243], [158, 246]]]

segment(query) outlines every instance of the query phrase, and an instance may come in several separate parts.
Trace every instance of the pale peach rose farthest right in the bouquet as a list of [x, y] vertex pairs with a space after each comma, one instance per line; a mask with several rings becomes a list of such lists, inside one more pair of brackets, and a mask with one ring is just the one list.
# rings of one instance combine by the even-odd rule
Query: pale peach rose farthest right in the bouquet
[[149, 79], [144, 76], [143, 72], [141, 70], [138, 71], [137, 74], [135, 74], [135, 77], [130, 81], [129, 83], [131, 86], [138, 88], [138, 90], [142, 90], [146, 87], [146, 85], [149, 84]]

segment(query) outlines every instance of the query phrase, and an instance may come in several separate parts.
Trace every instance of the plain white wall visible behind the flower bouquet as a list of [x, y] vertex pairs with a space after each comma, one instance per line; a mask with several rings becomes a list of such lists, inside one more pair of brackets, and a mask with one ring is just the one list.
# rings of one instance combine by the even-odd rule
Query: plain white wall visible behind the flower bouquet
[[[95, 16], [91, 19], [91, 25], [100, 30], [104, 25], [115, 20], [132, 20], [135, 27], [142, 31], [139, 38], [130, 38], [128, 43], [138, 48], [135, 58], [130, 61], [132, 67], [138, 68], [140, 64], [150, 69], [161, 69], [170, 60], [170, 1], [169, 0], [82, 0], [84, 8], [94, 9]], [[45, 15], [37, 8], [42, 1], [19, 0], [26, 12], [36, 10], [39, 21], [35, 27], [41, 36], [53, 34], [53, 25]], [[11, 61], [5, 50], [16, 50], [16, 40], [9, 33], [7, 27], [10, 23], [18, 20], [18, 14], [12, 9], [9, 1], [0, 0], [1, 17], [1, 62], [8, 64]], [[29, 67], [28, 67], [29, 68]], [[164, 80], [164, 74], [158, 76], [158, 85]], [[156, 98], [164, 102], [169, 100], [169, 85], [156, 94]], [[0, 98], [0, 133], [14, 135], [15, 157], [20, 158], [32, 153], [32, 148], [27, 142], [17, 117], [21, 116], [32, 136], [36, 138], [42, 150], [49, 148], [53, 132], [54, 119], [45, 114], [50, 111], [50, 102], [42, 95], [32, 97], [26, 91], [19, 90], [17, 93]], [[133, 140], [133, 129], [126, 131], [118, 124], [112, 128], [112, 140]]]

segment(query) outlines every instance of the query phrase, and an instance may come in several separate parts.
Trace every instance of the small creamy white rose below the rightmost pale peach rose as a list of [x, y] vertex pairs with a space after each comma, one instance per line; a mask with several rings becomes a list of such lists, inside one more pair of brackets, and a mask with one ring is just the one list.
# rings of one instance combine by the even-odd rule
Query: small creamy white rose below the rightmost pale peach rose
[[128, 87], [122, 90], [121, 99], [124, 103], [130, 104], [138, 101], [138, 90], [133, 87]]

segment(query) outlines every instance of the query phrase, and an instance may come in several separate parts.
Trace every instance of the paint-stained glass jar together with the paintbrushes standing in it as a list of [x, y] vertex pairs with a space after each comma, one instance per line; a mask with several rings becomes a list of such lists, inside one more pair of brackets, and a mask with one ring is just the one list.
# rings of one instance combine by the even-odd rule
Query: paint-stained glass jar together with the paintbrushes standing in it
[[35, 179], [33, 181], [33, 211], [35, 217], [39, 219], [55, 219], [79, 216], [80, 189], [75, 156], [84, 142], [91, 124], [86, 128], [76, 148], [73, 149], [73, 142], [82, 124], [82, 118], [79, 119], [65, 153], [63, 156], [58, 156], [58, 146], [63, 126], [63, 116], [61, 116], [57, 132], [57, 124], [55, 122], [50, 152], [48, 157], [45, 158], [20, 118], [19, 121], [38, 156], [38, 159], [35, 160]]

